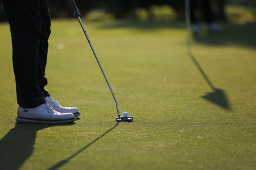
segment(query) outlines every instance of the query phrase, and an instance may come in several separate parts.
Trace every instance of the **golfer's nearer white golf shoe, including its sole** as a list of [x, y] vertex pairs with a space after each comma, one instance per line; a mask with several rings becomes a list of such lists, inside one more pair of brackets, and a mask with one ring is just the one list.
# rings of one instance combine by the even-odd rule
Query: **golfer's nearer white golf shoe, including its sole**
[[73, 113], [60, 113], [55, 111], [47, 103], [41, 104], [36, 108], [18, 108], [17, 122], [20, 123], [39, 123], [39, 124], [62, 124], [73, 122], [76, 117]]

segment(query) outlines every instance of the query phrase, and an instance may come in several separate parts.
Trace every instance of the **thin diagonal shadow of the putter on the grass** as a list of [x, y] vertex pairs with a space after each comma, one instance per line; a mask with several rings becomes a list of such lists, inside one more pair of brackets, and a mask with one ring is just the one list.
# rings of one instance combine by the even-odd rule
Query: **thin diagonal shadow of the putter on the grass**
[[111, 129], [109, 129], [108, 131], [104, 132], [104, 134], [100, 135], [98, 138], [94, 139], [91, 143], [89, 143], [88, 145], [84, 146], [83, 148], [81, 148], [81, 150], [78, 150], [76, 153], [74, 153], [73, 155], [71, 155], [70, 157], [68, 157], [65, 160], [61, 160], [60, 162], [58, 162], [57, 164], [55, 164], [54, 166], [50, 167], [48, 170], [55, 170], [60, 168], [61, 166], [63, 166], [64, 164], [66, 164], [70, 159], [76, 157], [76, 155], [78, 155], [79, 153], [83, 152], [84, 150], [86, 150], [86, 148], [88, 148], [90, 145], [92, 145], [93, 143], [95, 143], [97, 140], [99, 140], [100, 138], [102, 138], [103, 136], [105, 136], [106, 134], [108, 134], [108, 132], [112, 131], [113, 129], [115, 129], [115, 127], [119, 124], [119, 122], [117, 122], [115, 124], [114, 127], [111, 127]]

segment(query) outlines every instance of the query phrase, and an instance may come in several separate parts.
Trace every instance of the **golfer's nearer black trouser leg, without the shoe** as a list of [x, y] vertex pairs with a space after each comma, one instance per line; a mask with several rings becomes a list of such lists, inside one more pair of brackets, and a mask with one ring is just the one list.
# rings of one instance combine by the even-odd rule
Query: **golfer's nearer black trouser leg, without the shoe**
[[[41, 1], [47, 0], [3, 0], [12, 34], [17, 101], [22, 108], [34, 108], [45, 103], [38, 83], [42, 49]], [[45, 66], [42, 68], [44, 70]]]

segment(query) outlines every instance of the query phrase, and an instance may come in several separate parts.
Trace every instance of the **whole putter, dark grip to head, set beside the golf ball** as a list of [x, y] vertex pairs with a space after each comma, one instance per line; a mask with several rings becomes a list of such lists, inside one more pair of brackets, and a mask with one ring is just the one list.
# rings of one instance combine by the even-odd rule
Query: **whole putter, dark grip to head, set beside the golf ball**
[[67, 0], [67, 1], [68, 1], [68, 6], [70, 7], [70, 10], [72, 11], [72, 14], [74, 15], [75, 18], [78, 19], [79, 24], [81, 25], [81, 27], [83, 29], [84, 35], [86, 36], [86, 39], [87, 39], [90, 47], [92, 48], [93, 55], [95, 56], [95, 59], [97, 60], [97, 62], [99, 64], [100, 70], [101, 70], [101, 72], [102, 72], [102, 74], [103, 74], [103, 76], [104, 76], [104, 78], [105, 78], [105, 80], [106, 80], [106, 82], [108, 84], [109, 90], [110, 90], [110, 92], [111, 92], [111, 94], [112, 94], [112, 96], [113, 96], [113, 98], [115, 100], [116, 111], [117, 111], [117, 114], [118, 114], [118, 117], [116, 118], [116, 122], [131, 122], [133, 120], [133, 117], [129, 116], [129, 113], [124, 112], [124, 113], [122, 113], [122, 116], [120, 116], [120, 112], [119, 112], [119, 108], [118, 108], [118, 104], [117, 104], [117, 101], [116, 101], [115, 94], [114, 94], [113, 90], [111, 89], [111, 86], [110, 86], [110, 84], [108, 82], [106, 74], [104, 73], [103, 68], [102, 68], [102, 66], [100, 64], [100, 61], [99, 61], [99, 59], [97, 57], [97, 54], [96, 54], [96, 52], [95, 52], [95, 50], [94, 50], [94, 48], [92, 46], [92, 42], [91, 42], [91, 40], [90, 40], [90, 38], [89, 38], [85, 28], [84, 28], [83, 22], [81, 20], [81, 13], [80, 13], [80, 11], [77, 8], [76, 2], [74, 0]]

